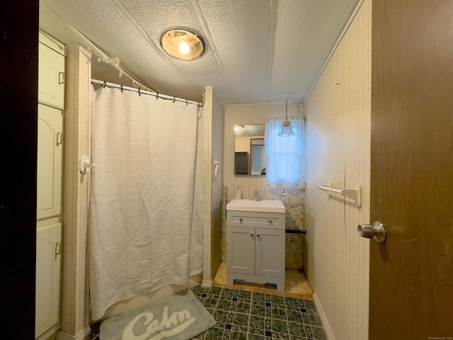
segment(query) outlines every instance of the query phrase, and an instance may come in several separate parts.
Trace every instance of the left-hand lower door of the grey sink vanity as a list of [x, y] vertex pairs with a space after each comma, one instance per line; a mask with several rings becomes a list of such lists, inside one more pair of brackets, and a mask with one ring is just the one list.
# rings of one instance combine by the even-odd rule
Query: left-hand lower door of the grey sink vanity
[[226, 271], [255, 273], [255, 228], [226, 227]]

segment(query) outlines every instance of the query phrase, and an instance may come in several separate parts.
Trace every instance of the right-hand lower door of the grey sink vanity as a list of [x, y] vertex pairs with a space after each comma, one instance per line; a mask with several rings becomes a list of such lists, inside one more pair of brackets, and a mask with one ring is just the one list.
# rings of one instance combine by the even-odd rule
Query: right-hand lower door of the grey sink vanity
[[285, 230], [256, 228], [256, 236], [256, 275], [285, 277]]

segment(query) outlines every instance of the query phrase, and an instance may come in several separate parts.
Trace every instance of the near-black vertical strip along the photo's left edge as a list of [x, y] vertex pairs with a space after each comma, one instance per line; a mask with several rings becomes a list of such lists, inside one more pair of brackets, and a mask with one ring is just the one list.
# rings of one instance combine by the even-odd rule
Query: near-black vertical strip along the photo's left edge
[[0, 322], [35, 339], [38, 0], [0, 0]]

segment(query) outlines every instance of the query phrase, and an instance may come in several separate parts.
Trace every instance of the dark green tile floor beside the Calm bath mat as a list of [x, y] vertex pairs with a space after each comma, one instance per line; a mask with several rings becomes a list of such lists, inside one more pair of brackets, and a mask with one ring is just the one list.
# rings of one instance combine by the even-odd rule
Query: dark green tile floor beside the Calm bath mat
[[[192, 288], [217, 324], [197, 340], [327, 340], [311, 300], [222, 287]], [[85, 340], [98, 340], [99, 324]]]

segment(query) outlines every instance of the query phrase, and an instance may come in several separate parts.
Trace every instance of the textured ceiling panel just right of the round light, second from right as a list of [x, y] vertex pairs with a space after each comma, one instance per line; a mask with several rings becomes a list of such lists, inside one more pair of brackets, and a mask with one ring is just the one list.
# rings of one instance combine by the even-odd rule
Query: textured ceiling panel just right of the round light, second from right
[[263, 102], [267, 91], [270, 1], [198, 3], [236, 103]]

